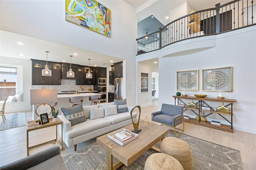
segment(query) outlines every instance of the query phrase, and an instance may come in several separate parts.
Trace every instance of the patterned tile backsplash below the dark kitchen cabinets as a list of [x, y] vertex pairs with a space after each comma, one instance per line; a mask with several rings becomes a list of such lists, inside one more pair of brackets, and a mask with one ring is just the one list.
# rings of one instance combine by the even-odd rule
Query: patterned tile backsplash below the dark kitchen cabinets
[[[70, 91], [75, 90], [75, 86], [77, 87], [77, 90], [81, 90], [81, 86], [84, 86], [84, 91], [89, 91], [88, 88], [93, 88], [93, 85], [76, 85], [76, 80], [68, 80], [68, 79], [62, 79], [61, 85], [33, 85], [31, 86], [31, 89], [40, 89], [42, 87], [45, 88], [57, 88], [58, 92], [61, 91]], [[114, 90], [114, 88], [113, 88]]]

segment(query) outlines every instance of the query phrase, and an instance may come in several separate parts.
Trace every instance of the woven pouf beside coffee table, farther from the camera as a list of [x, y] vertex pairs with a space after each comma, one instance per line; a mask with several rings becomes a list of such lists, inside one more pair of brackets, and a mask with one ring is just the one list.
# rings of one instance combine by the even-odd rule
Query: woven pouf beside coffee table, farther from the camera
[[176, 137], [166, 137], [160, 144], [161, 153], [176, 158], [182, 164], [184, 170], [192, 170], [192, 152], [190, 145]]

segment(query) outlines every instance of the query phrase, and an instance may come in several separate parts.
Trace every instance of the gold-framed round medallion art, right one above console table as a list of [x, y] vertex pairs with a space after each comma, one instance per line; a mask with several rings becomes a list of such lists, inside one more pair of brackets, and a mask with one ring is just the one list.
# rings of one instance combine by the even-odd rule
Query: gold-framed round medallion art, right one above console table
[[233, 67], [202, 69], [202, 91], [233, 92]]

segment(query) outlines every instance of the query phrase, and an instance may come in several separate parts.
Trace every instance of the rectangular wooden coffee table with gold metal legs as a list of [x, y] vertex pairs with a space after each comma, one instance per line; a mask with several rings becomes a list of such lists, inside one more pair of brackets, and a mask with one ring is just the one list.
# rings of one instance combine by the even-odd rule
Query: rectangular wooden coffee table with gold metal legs
[[[152, 124], [152, 129], [150, 130], [148, 126], [143, 127], [143, 125], [144, 121], [140, 120], [139, 129], [142, 131], [138, 133], [138, 139], [135, 139], [123, 147], [109, 139], [108, 134], [97, 138], [97, 143], [108, 151], [108, 170], [118, 169], [123, 166], [123, 164], [129, 166], [149, 149], [160, 152], [160, 149], [154, 147], [154, 145], [160, 140], [164, 139], [164, 137], [170, 133], [170, 127], [157, 125], [154, 123]], [[132, 131], [133, 125], [130, 124], [123, 128]], [[114, 165], [113, 156], [120, 160]]]

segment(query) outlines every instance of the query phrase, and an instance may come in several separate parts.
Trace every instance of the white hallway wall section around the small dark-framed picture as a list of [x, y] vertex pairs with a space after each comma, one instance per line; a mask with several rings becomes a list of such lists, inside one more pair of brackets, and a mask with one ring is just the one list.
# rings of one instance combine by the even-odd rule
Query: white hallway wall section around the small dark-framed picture
[[[141, 107], [152, 105], [152, 66], [145, 63], [138, 62], [138, 103]], [[148, 92], [141, 92], [141, 73], [148, 74]]]

